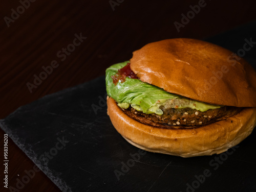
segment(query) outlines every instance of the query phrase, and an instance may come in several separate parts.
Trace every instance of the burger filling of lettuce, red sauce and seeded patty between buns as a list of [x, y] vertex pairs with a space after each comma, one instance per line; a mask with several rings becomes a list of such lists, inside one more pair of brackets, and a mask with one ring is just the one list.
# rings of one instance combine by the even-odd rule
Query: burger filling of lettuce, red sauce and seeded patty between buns
[[127, 115], [153, 126], [201, 126], [239, 112], [236, 107], [192, 100], [142, 82], [129, 61], [106, 69], [106, 91]]

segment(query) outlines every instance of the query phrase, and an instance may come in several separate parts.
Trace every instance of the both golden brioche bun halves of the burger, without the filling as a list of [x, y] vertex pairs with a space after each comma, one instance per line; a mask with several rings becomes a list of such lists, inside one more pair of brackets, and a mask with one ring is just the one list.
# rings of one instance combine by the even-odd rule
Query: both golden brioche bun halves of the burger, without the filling
[[239, 113], [205, 126], [162, 129], [129, 117], [108, 98], [112, 124], [132, 145], [181, 157], [220, 154], [238, 145], [256, 126], [256, 72], [223, 47], [195, 39], [167, 39], [143, 46], [130, 61], [141, 81], [167, 92], [241, 107]]

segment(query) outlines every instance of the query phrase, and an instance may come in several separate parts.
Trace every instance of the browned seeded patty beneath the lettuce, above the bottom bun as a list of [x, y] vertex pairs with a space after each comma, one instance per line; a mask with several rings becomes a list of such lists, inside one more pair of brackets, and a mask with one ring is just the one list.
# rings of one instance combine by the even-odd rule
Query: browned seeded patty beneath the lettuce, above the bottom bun
[[129, 107], [128, 109], [122, 109], [128, 116], [136, 119], [137, 121], [151, 126], [161, 128], [195, 128], [195, 126], [204, 126], [221, 119], [225, 119], [229, 116], [237, 114], [241, 111], [238, 107], [224, 106], [219, 109], [209, 109], [205, 112], [198, 111], [196, 109], [184, 108], [184, 109], [165, 109], [160, 107], [163, 114], [157, 115], [146, 114], [136, 109]]

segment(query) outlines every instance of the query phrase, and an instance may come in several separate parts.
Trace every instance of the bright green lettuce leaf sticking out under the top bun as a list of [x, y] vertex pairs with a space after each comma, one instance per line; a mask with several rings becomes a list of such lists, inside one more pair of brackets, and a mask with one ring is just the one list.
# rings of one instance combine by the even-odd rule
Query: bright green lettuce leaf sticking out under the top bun
[[[184, 98], [177, 94], [166, 92], [157, 86], [142, 82], [138, 79], [131, 79], [126, 77], [123, 83], [119, 81], [115, 85], [111, 76], [116, 75], [118, 69], [124, 67], [128, 62], [129, 61], [117, 63], [106, 69], [106, 92], [117, 103], [130, 104], [135, 109], [143, 111], [143, 113], [152, 113], [149, 112], [148, 109], [156, 106], [156, 103], [159, 101], [164, 102], [169, 99], [182, 99], [183, 101], [188, 101], [185, 103], [189, 103], [189, 105], [179, 106], [179, 108], [189, 107], [200, 111], [206, 111], [210, 108], [220, 108], [218, 105], [206, 104], [203, 102]], [[196, 105], [193, 105], [195, 103]], [[199, 108], [195, 106], [198, 106]]]

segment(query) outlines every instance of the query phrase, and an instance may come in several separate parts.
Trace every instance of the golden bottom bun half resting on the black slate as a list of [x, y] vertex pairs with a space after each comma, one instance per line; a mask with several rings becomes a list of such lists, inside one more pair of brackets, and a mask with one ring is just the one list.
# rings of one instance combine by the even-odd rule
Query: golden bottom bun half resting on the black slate
[[181, 157], [220, 154], [238, 145], [256, 126], [256, 108], [244, 108], [225, 120], [196, 129], [161, 129], [127, 116], [112, 98], [108, 115], [116, 130], [133, 146]]

